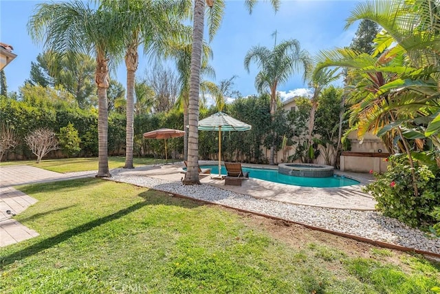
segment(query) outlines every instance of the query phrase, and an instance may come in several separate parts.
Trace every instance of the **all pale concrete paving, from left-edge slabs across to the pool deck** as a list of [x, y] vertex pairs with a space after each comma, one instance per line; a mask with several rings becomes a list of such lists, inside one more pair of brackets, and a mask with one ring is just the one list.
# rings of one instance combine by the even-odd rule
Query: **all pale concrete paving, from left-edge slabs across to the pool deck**
[[[261, 165], [245, 166], [267, 168], [267, 166]], [[152, 178], [180, 181], [184, 177], [181, 168], [181, 165], [162, 165], [155, 167], [149, 165], [135, 169], [115, 169], [111, 171], [111, 174], [149, 176]], [[201, 177], [200, 181], [204, 184], [220, 187], [221, 189], [228, 189], [236, 193], [247, 194], [255, 198], [333, 209], [373, 210], [376, 204], [375, 200], [369, 194], [361, 191], [361, 187], [373, 180], [373, 177], [369, 174], [339, 174], [359, 180], [361, 185], [338, 188], [313, 188], [284, 185], [250, 178], [249, 180], [244, 180], [241, 187], [236, 187], [225, 186], [224, 180], [217, 180], [211, 176]], [[95, 175], [96, 171], [59, 174], [54, 171], [47, 171], [28, 165], [0, 167], [0, 247], [39, 235], [36, 231], [28, 229], [13, 219], [15, 214], [21, 213], [21, 211], [24, 211], [37, 201], [25, 193], [14, 189], [13, 186], [58, 180], [73, 180]]]

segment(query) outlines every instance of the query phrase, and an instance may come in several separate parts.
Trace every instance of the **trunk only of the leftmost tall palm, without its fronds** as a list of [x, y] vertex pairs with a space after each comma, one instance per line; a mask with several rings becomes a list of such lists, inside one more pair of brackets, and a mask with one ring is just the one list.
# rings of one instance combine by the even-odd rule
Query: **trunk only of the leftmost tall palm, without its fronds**
[[108, 177], [109, 156], [107, 138], [109, 132], [109, 112], [107, 109], [107, 88], [109, 87], [109, 66], [105, 54], [98, 52], [96, 58], [96, 85], [98, 86], [98, 174], [97, 178]]

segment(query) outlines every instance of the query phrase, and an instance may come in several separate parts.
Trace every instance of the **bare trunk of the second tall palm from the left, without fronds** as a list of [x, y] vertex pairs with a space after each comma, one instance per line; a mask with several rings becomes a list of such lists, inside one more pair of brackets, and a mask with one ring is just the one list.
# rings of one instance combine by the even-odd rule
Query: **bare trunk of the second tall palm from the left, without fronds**
[[137, 45], [131, 44], [126, 50], [126, 138], [125, 138], [125, 169], [133, 169], [133, 114], [135, 72], [139, 63]]

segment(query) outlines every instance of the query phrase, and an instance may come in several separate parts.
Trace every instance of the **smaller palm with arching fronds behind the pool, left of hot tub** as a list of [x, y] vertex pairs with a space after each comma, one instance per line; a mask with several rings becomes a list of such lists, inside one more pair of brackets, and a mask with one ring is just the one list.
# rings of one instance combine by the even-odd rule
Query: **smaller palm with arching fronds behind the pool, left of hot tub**
[[[260, 72], [255, 77], [256, 90], [261, 93], [267, 90], [270, 94], [270, 114], [272, 121], [274, 121], [278, 85], [287, 83], [290, 76], [300, 70], [304, 71], [303, 77], [305, 79], [311, 64], [309, 53], [301, 50], [297, 40], [291, 39], [275, 45], [274, 50], [260, 45], [254, 46], [245, 56], [244, 65], [248, 72], [251, 61], [254, 61], [260, 68]], [[270, 165], [274, 165], [274, 149], [275, 136], [273, 136], [270, 147]]]

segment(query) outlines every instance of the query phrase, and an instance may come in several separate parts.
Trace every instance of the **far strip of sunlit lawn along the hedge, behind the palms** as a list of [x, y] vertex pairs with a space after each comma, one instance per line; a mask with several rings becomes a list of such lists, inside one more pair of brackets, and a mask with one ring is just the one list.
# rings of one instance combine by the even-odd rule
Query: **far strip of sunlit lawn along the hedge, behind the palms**
[[[173, 160], [168, 160], [172, 162]], [[154, 158], [133, 158], [133, 165], [153, 165]], [[158, 160], [157, 163], [165, 163], [165, 160]], [[19, 160], [0, 162], [0, 166], [9, 165], [31, 165], [33, 167], [40, 167], [58, 173], [67, 173], [74, 171], [95, 171], [98, 170], [98, 158], [63, 158], [63, 159], [47, 159], [36, 163], [35, 160]], [[111, 156], [109, 157], [109, 169], [124, 167], [125, 157]]]

